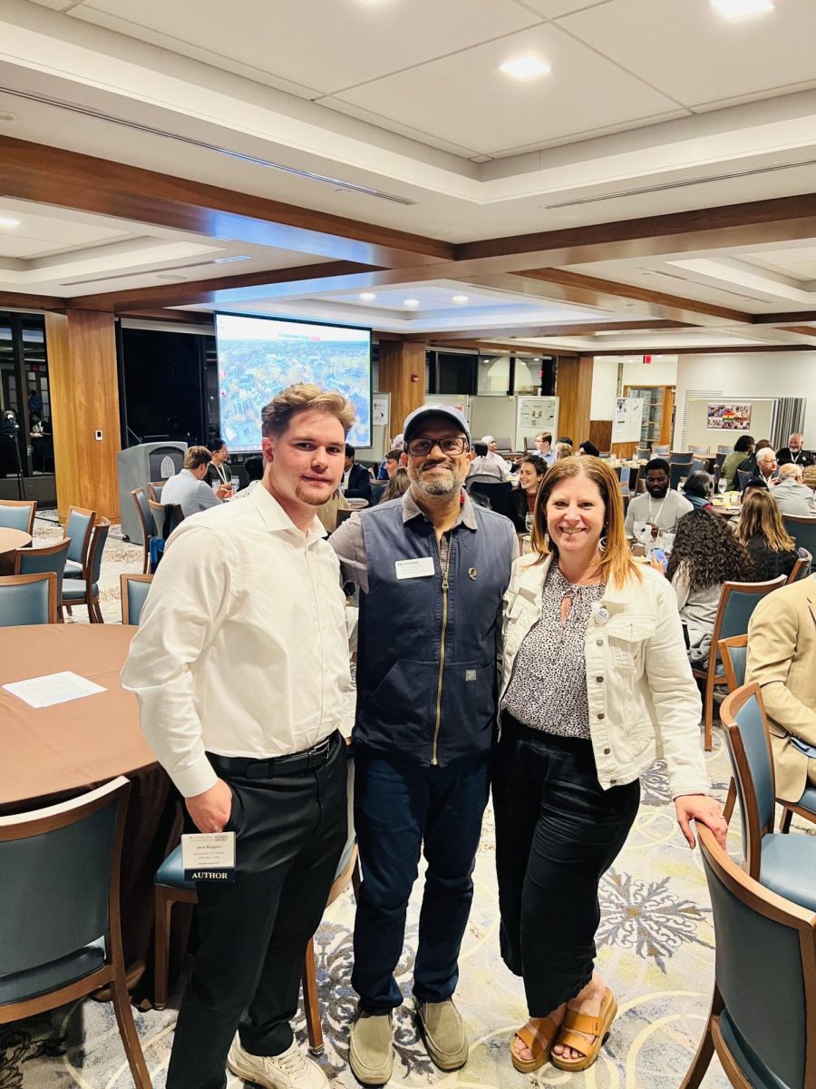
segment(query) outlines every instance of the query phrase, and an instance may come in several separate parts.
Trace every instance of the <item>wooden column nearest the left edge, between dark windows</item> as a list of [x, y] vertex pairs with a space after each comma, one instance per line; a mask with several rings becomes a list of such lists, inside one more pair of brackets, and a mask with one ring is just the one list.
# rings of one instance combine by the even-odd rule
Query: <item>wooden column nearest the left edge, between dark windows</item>
[[74, 505], [119, 522], [114, 317], [95, 310], [47, 314], [46, 344], [60, 521]]

